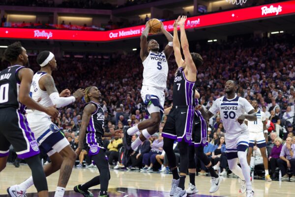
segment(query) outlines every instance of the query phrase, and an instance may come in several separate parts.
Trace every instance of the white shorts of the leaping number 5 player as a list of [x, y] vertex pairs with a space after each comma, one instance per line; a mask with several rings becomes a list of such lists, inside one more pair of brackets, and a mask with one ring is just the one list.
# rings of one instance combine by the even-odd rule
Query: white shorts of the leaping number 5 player
[[[143, 86], [141, 96], [144, 103], [148, 106], [148, 113], [164, 112], [165, 93], [164, 90], [151, 86]], [[153, 107], [155, 106], [155, 107]]]

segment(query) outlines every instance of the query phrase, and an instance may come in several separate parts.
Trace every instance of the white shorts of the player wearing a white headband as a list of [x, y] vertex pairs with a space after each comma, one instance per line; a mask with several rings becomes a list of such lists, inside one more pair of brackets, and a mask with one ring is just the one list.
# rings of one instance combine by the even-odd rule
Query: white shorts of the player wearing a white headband
[[70, 144], [47, 114], [28, 113], [27, 118], [40, 150], [49, 157]]

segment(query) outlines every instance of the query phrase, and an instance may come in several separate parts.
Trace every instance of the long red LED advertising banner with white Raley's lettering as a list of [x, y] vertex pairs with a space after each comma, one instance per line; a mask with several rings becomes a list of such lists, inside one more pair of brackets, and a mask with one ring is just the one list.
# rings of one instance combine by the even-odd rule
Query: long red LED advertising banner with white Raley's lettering
[[[235, 9], [187, 18], [185, 28], [201, 28], [221, 24], [229, 24], [252, 19], [263, 19], [295, 13], [295, 0], [272, 3], [248, 8]], [[174, 20], [163, 22], [165, 29], [173, 31]], [[135, 26], [110, 31], [75, 31], [0, 28], [0, 38], [50, 39], [69, 41], [111, 41], [140, 36], [145, 26]]]

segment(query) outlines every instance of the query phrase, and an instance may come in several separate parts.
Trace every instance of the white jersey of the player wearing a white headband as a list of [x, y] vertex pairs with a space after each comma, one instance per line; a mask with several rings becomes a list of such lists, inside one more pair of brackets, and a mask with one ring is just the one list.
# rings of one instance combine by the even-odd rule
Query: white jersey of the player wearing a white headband
[[[47, 72], [36, 72], [33, 76], [32, 79], [32, 84], [30, 87], [30, 91], [29, 91], [29, 95], [32, 99], [34, 99], [35, 101], [37, 101], [39, 98], [41, 98], [41, 100], [39, 101], [39, 103], [45, 107], [49, 107], [49, 106], [53, 106], [53, 103], [51, 101], [51, 99], [49, 98], [49, 95], [47, 93], [47, 91], [43, 91], [40, 89], [39, 87], [39, 80], [42, 76], [46, 75]], [[47, 115], [45, 112], [41, 112], [38, 110], [27, 110], [28, 113], [43, 113], [45, 115]], [[49, 117], [49, 115], [47, 115]]]

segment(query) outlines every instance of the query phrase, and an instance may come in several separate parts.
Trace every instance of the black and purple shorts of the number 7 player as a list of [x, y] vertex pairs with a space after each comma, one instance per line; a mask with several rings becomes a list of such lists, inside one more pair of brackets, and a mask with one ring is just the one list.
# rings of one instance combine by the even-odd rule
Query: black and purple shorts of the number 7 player
[[178, 142], [184, 139], [185, 142], [192, 143], [192, 131], [194, 122], [193, 106], [174, 106], [168, 115], [162, 136], [175, 139]]

